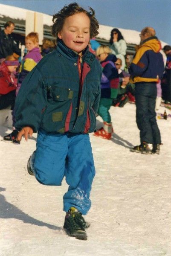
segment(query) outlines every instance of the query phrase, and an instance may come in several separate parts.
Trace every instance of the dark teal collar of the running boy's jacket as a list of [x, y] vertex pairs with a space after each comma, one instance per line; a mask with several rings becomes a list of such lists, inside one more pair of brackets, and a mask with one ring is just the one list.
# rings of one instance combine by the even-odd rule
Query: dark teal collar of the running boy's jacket
[[[63, 55], [67, 59], [77, 62], [78, 54], [72, 51], [70, 48], [68, 48], [61, 39], [59, 39], [56, 49], [60, 55]], [[82, 52], [82, 58], [83, 58], [83, 61], [91, 65], [92, 62], [95, 60], [96, 56], [93, 53], [89, 52], [88, 46], [87, 46]]]

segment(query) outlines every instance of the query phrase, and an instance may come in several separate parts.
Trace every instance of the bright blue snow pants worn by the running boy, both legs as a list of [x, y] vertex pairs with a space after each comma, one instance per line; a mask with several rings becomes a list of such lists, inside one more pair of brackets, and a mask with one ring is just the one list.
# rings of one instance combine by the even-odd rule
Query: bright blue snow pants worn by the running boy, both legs
[[75, 207], [83, 215], [87, 214], [95, 176], [89, 134], [38, 131], [32, 169], [36, 179], [44, 185], [61, 186], [65, 176], [69, 189], [63, 197], [64, 211]]

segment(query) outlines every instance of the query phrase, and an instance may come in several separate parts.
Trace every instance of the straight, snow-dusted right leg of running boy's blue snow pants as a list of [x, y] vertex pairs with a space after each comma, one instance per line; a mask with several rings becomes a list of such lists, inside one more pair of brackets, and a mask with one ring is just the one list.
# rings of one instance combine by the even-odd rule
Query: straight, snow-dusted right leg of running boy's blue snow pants
[[90, 191], [95, 167], [89, 134], [70, 134], [65, 177], [69, 185], [64, 195], [64, 211], [75, 207], [87, 214], [91, 206]]

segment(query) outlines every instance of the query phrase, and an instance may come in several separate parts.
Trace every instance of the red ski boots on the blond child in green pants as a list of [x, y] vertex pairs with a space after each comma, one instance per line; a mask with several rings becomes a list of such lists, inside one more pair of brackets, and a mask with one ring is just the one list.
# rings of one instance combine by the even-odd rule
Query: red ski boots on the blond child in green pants
[[113, 133], [112, 123], [103, 122], [103, 127], [96, 132], [94, 132], [94, 136], [100, 137], [106, 140], [110, 140]]

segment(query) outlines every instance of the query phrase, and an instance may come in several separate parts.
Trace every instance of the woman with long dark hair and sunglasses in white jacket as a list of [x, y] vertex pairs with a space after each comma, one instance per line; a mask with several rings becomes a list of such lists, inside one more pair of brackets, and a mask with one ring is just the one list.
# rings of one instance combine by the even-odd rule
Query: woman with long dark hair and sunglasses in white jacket
[[109, 44], [110, 49], [112, 49], [112, 54], [116, 55], [117, 58], [122, 60], [121, 68], [124, 70], [127, 45], [119, 29], [112, 29], [110, 32]]

